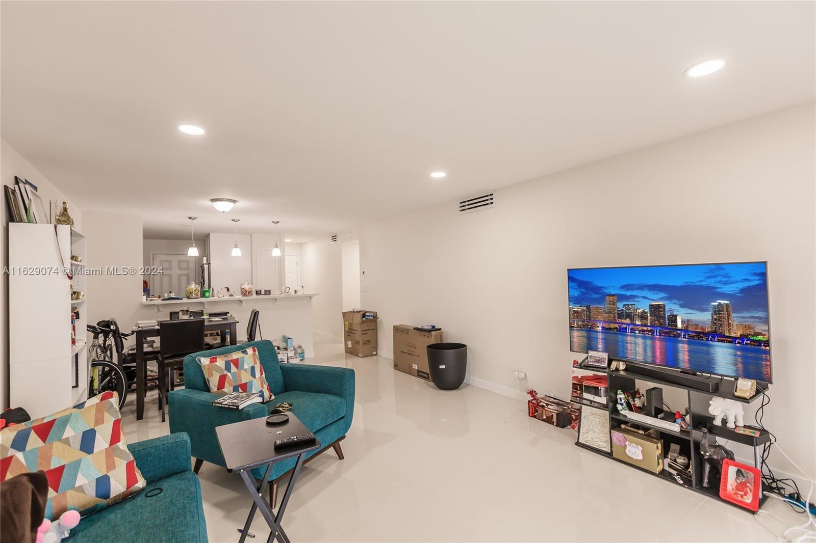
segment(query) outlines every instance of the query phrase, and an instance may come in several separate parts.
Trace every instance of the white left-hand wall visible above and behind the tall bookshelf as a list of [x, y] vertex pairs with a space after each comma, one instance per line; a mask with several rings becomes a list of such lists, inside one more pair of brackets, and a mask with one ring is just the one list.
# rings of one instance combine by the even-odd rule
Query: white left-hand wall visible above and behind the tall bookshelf
[[[14, 176], [21, 179], [28, 179], [31, 183], [37, 185], [38, 194], [42, 198], [42, 205], [46, 208], [46, 213], [51, 214], [49, 202], [56, 200], [60, 202], [68, 202], [68, 210], [73, 217], [74, 226], [82, 232], [82, 211], [76, 205], [73, 205], [70, 198], [66, 196], [60, 189], [56, 188], [51, 181], [38, 172], [31, 163], [25, 160], [24, 157], [16, 152], [15, 148], [5, 140], [0, 139], [0, 184], [14, 187]], [[59, 179], [55, 179], [59, 183]], [[0, 236], [0, 254], [2, 254], [2, 267], [9, 265], [8, 262], [8, 218], [7, 218], [7, 204], [6, 196], [0, 196], [2, 203], [0, 203], [0, 227], [2, 227], [2, 236]], [[8, 401], [8, 276], [2, 275], [2, 288], [0, 288], [0, 408], [10, 407]], [[11, 406], [14, 407], [14, 406]]]

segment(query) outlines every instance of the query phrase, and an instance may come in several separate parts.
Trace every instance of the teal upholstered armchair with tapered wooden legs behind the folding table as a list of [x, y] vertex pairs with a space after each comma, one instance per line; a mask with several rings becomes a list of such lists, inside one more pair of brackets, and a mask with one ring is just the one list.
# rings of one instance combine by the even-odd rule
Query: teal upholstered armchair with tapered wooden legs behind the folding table
[[[275, 395], [274, 400], [266, 404], [251, 404], [241, 410], [215, 407], [212, 402], [218, 395], [209, 391], [201, 364], [196, 359], [199, 356], [225, 355], [248, 347], [258, 349], [264, 375]], [[176, 389], [167, 395], [170, 431], [186, 432], [190, 436], [193, 457], [197, 459], [194, 468], [196, 473], [202, 461], [223, 467], [224, 457], [215, 437], [215, 427], [268, 417], [269, 410], [281, 402], [292, 404], [292, 413], [322, 444], [322, 448], [309, 453], [308, 458], [334, 448], [340, 460], [343, 459], [340, 440], [344, 439], [352, 426], [354, 370], [308, 364], [280, 364], [277, 351], [268, 340], [220, 347], [184, 357], [184, 389]], [[269, 484], [269, 503], [273, 507], [277, 501], [278, 479], [294, 467], [295, 458], [273, 465], [270, 475], [272, 482]], [[255, 468], [252, 475], [255, 479], [262, 479], [263, 468]]]

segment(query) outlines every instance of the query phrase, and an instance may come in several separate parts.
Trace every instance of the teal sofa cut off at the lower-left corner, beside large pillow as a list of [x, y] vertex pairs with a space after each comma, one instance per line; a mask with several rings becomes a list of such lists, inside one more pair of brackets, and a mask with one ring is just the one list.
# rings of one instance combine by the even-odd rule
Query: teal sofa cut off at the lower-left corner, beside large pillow
[[[202, 488], [190, 468], [186, 434], [162, 435], [129, 444], [147, 486], [135, 496], [83, 517], [63, 541], [69, 543], [206, 543]], [[148, 497], [157, 492], [157, 496]], [[150, 492], [153, 490], [153, 492]]]

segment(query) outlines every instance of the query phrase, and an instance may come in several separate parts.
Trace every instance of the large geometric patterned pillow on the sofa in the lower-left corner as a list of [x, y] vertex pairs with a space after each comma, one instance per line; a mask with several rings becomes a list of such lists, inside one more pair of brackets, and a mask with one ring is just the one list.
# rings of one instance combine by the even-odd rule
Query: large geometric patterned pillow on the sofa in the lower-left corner
[[46, 518], [91, 514], [140, 492], [145, 481], [127, 450], [119, 398], [103, 392], [73, 408], [0, 430], [0, 482], [44, 470]]

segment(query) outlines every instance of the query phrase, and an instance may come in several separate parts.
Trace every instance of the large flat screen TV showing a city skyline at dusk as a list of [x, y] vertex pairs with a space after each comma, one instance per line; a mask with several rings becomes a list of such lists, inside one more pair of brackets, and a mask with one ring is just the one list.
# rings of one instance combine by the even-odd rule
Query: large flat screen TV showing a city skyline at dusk
[[567, 272], [570, 351], [771, 382], [764, 262]]

